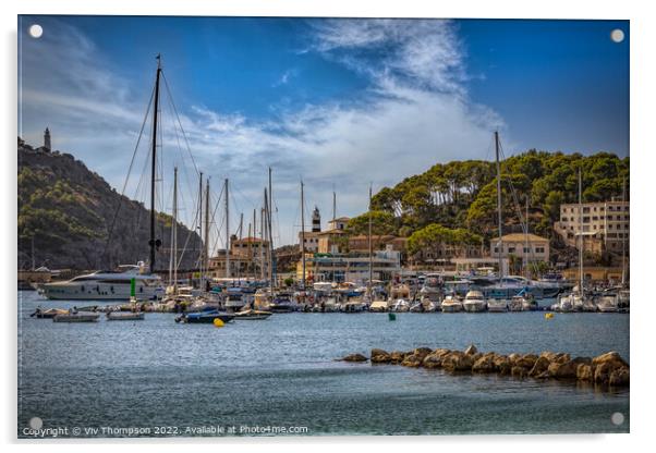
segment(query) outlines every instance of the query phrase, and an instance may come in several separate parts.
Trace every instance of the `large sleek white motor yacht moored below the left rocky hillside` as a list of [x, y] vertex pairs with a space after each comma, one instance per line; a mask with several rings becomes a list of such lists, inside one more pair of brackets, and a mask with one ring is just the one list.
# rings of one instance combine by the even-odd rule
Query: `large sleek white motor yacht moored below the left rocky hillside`
[[160, 298], [165, 289], [159, 276], [144, 273], [144, 264], [119, 266], [114, 271], [99, 270], [65, 282], [44, 283], [40, 292], [50, 299], [127, 301], [131, 281], [139, 299]]

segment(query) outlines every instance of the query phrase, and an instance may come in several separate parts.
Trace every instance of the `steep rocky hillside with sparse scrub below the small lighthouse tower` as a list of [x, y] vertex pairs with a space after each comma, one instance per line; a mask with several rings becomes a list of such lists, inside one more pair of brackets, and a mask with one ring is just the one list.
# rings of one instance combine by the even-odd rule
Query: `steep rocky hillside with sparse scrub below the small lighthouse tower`
[[[33, 244], [36, 266], [51, 269], [111, 269], [148, 260], [149, 211], [121, 196], [73, 156], [19, 145], [17, 180], [19, 268], [32, 266]], [[171, 228], [171, 217], [158, 212], [156, 237], [162, 246], [157, 270], [168, 269]], [[177, 228], [180, 248], [192, 235], [181, 268], [193, 268], [201, 238], [180, 223]]]

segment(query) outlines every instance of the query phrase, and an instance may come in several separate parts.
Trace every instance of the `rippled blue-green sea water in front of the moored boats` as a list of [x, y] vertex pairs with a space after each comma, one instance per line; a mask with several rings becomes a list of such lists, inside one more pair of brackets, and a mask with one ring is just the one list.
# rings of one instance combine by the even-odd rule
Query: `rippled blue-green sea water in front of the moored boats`
[[[470, 343], [505, 354], [618, 351], [629, 359], [628, 315], [289, 314], [217, 329], [178, 325], [169, 314], [56, 323], [29, 317], [39, 304], [85, 305], [19, 293], [20, 437], [33, 417], [83, 436], [85, 428], [104, 436], [104, 427], [150, 436], [215, 436], [221, 427], [218, 434], [230, 436], [233, 426], [236, 434], [301, 427], [311, 436], [629, 431], [628, 390], [335, 362], [372, 347]], [[622, 425], [611, 423], [614, 413]]]

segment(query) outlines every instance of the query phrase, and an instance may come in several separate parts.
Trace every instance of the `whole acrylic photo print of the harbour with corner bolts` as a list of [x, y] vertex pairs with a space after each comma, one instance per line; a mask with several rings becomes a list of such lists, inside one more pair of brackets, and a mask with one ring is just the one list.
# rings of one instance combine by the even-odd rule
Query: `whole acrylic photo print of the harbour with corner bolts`
[[17, 436], [628, 432], [629, 39], [20, 16]]

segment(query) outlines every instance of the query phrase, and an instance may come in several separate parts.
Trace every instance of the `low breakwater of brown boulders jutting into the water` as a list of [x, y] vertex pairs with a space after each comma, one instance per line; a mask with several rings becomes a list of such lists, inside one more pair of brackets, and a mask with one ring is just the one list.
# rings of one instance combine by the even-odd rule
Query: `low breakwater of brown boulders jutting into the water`
[[370, 362], [372, 365], [401, 365], [412, 368], [444, 369], [450, 372], [497, 374], [537, 380], [582, 381], [607, 387], [629, 385], [629, 364], [616, 352], [596, 357], [571, 357], [567, 353], [537, 354], [482, 353], [470, 345], [464, 351], [417, 347], [412, 351], [374, 348], [369, 357], [350, 354], [345, 362]]

